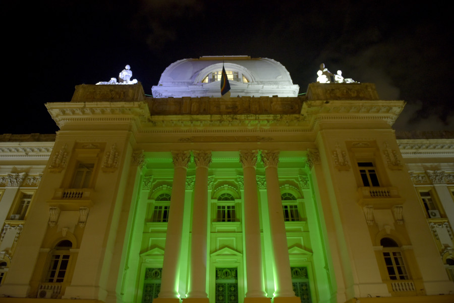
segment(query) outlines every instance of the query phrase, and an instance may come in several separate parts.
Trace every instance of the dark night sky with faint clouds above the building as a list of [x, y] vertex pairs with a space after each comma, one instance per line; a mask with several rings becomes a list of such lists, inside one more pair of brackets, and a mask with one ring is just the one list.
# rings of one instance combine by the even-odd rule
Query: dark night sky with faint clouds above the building
[[396, 130], [454, 130], [453, 25], [450, 10], [437, 5], [7, 2], [0, 134], [58, 131], [44, 103], [70, 101], [76, 85], [118, 78], [127, 64], [151, 95], [168, 65], [202, 55], [273, 58], [300, 93], [324, 63], [332, 73], [375, 83], [381, 99], [407, 101]]

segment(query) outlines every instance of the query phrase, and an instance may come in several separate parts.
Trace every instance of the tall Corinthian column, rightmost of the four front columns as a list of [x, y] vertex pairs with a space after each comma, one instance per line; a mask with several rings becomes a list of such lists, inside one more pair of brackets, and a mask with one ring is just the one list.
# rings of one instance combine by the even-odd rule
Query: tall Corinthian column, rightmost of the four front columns
[[292, 275], [290, 272], [286, 225], [283, 220], [279, 178], [277, 176], [279, 152], [262, 151], [262, 161], [265, 167], [269, 225], [273, 244], [274, 285], [276, 289], [273, 300], [274, 303], [300, 302], [300, 298], [296, 297], [293, 291]]

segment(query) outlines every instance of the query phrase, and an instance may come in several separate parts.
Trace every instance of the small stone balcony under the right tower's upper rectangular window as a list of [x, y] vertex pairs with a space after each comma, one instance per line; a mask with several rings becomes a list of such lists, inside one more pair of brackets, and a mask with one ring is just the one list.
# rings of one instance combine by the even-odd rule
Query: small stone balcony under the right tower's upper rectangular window
[[372, 205], [374, 209], [388, 209], [404, 203], [396, 187], [360, 187], [358, 198], [359, 205]]

